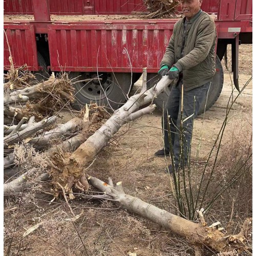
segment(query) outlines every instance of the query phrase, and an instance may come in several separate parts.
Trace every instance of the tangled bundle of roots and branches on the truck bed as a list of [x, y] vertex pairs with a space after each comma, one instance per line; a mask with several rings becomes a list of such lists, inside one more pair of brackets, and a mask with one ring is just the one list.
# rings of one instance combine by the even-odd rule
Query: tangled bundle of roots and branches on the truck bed
[[147, 18], [175, 17], [179, 0], [143, 0]]

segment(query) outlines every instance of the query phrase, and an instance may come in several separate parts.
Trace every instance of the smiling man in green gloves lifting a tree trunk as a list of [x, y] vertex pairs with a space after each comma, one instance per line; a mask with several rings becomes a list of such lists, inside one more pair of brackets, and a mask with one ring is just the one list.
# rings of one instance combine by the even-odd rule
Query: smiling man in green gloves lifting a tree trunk
[[[174, 166], [168, 166], [168, 173], [173, 173], [174, 169], [185, 167], [188, 163], [193, 120], [207, 96], [216, 72], [215, 23], [210, 15], [201, 10], [201, 5], [202, 0], [180, 0], [184, 18], [179, 19], [174, 26], [158, 71], [161, 76], [168, 75], [170, 79], [175, 79], [162, 118], [164, 148], [155, 153], [155, 156], [163, 157], [170, 151], [173, 152]], [[182, 127], [181, 115], [184, 120]]]

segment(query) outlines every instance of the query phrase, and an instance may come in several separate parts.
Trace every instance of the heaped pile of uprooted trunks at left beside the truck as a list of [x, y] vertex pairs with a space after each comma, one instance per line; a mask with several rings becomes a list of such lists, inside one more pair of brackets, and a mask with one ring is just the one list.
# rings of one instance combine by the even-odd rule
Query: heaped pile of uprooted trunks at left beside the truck
[[[59, 112], [66, 109], [73, 113], [71, 103], [74, 101], [74, 88], [67, 74], [57, 78], [52, 74], [47, 81], [37, 84], [30, 82], [20, 87], [20, 83], [17, 86], [13, 82], [13, 77], [24, 67], [18, 70], [12, 67], [6, 75], [10, 80], [4, 87], [4, 175], [8, 181], [22, 167], [25, 169], [25, 176], [29, 176], [33, 173], [30, 172], [31, 169], [38, 168], [36, 162], [43, 162], [41, 166], [46, 167], [45, 170], [49, 172], [51, 168], [59, 170], [54, 165], [55, 158], [61, 155], [65, 159], [66, 154], [86, 141], [100, 127], [102, 120], [108, 117], [103, 108], [91, 104], [76, 116], [72, 114], [74, 117], [63, 123]], [[31, 73], [26, 71], [23, 74], [30, 76]], [[17, 79], [29, 82], [20, 74]], [[38, 160], [33, 161], [32, 158]], [[27, 181], [23, 177], [24, 175], [17, 178], [16, 183], [12, 181], [11, 186], [5, 184], [5, 193], [20, 191], [23, 188], [20, 181]], [[17, 184], [16, 188], [14, 184]]]

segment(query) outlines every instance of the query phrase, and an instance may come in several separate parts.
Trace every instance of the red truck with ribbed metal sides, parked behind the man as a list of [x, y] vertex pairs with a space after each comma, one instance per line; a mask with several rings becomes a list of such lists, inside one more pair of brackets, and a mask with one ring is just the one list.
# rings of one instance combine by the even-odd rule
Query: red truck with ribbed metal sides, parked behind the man
[[[201, 8], [213, 15], [218, 33], [209, 109], [222, 90], [221, 59], [229, 44], [233, 82], [239, 90], [239, 45], [252, 44], [252, 0], [204, 0]], [[69, 72], [70, 78], [91, 78], [74, 83], [78, 103], [96, 100], [117, 109], [143, 67], [147, 67], [148, 86], [157, 82], [177, 22], [177, 18], [145, 19], [135, 14], [144, 10], [142, 0], [5, 0], [5, 70], [10, 66], [10, 47], [15, 66], [26, 63], [31, 71], [47, 67]], [[160, 108], [169, 90], [155, 100]]]

